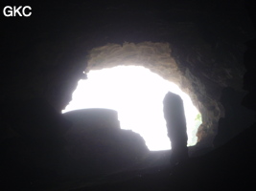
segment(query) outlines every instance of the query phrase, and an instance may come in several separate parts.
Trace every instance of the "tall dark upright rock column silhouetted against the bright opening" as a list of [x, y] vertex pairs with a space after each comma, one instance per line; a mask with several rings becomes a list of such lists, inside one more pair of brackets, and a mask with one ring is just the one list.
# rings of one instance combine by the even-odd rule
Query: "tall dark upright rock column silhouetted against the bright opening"
[[171, 163], [175, 164], [188, 159], [188, 136], [183, 101], [180, 96], [169, 92], [163, 102], [168, 137], [172, 145]]

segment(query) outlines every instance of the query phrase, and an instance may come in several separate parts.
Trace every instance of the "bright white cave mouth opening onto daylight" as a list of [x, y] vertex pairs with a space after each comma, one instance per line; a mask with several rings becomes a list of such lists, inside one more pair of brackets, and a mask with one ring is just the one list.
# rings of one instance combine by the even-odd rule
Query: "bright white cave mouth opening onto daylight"
[[79, 81], [72, 101], [62, 113], [85, 108], [116, 110], [122, 129], [140, 134], [151, 151], [168, 150], [171, 143], [167, 137], [163, 99], [170, 91], [183, 99], [188, 145], [197, 143], [200, 114], [191, 98], [174, 83], [138, 66], [90, 71], [87, 76], [88, 79]]

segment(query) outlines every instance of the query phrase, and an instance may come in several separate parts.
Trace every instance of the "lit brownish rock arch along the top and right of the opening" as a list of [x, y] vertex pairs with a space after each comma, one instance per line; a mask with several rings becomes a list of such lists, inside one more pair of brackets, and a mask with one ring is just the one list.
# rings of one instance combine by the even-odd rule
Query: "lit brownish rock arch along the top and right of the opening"
[[[202, 83], [188, 69], [184, 70], [177, 64], [172, 56], [169, 43], [143, 42], [134, 44], [126, 42], [123, 45], [106, 44], [105, 46], [94, 48], [87, 55], [87, 67], [84, 73], [89, 74], [92, 71], [118, 66], [145, 67], [151, 73], [161, 76], [164, 80], [174, 82], [182, 92], [190, 96], [193, 104], [201, 114], [203, 126], [198, 133], [194, 131], [194, 136], [198, 136], [197, 139], [200, 141], [207, 139], [207, 143], [212, 142], [216, 135], [219, 118], [223, 115], [221, 105], [217, 100], [213, 100], [207, 95], [202, 95]], [[132, 78], [132, 74], [130, 74], [130, 78]], [[198, 91], [199, 86], [202, 86], [200, 87], [200, 92]], [[206, 101], [203, 102], [201, 101], [202, 99], [206, 99]], [[208, 105], [205, 105], [205, 103]]]

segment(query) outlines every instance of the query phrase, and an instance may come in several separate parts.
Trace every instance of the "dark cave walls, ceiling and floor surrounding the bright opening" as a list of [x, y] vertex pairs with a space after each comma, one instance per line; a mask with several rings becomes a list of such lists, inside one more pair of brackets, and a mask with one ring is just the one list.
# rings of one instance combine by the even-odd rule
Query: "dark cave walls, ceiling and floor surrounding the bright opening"
[[[1, 190], [255, 187], [253, 1], [31, 6], [31, 17], [1, 20]], [[171, 151], [150, 151], [114, 110], [61, 114], [89, 71], [120, 65], [191, 97], [202, 124], [186, 162], [171, 167]]]

